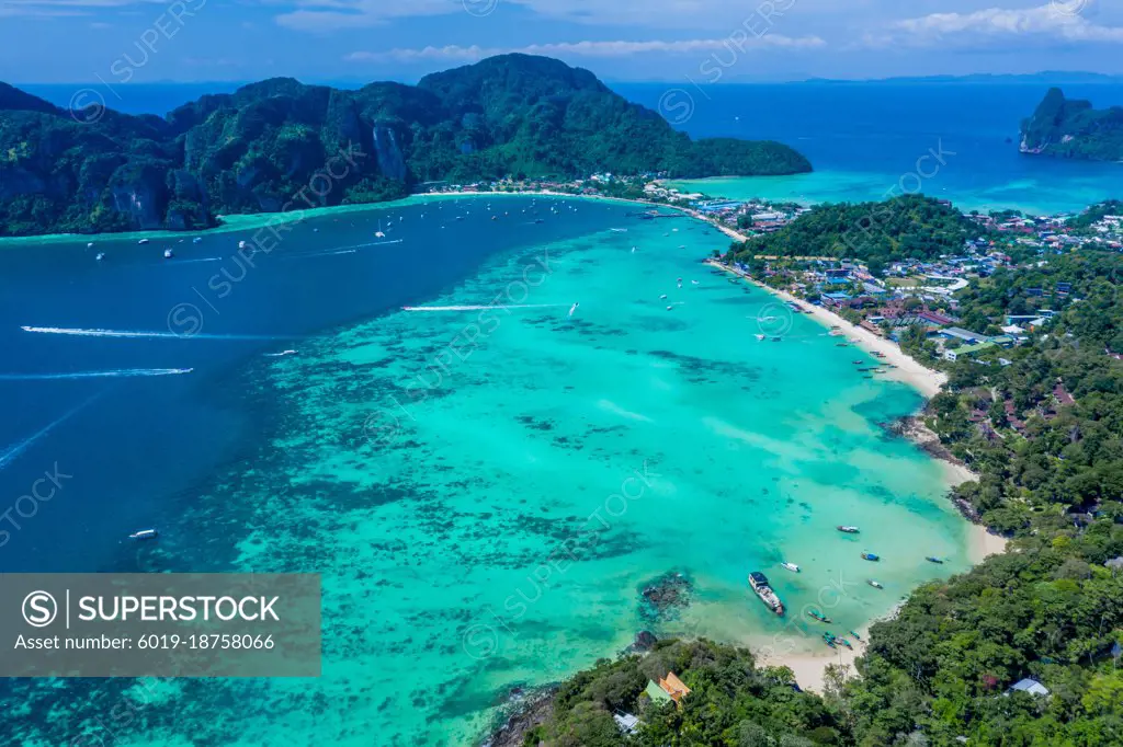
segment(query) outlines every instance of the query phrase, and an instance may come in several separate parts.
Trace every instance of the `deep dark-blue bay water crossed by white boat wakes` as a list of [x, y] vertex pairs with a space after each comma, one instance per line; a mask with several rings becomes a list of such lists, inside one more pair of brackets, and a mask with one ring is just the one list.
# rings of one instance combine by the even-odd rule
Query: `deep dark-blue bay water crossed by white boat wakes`
[[[231, 388], [232, 372], [431, 298], [494, 252], [603, 229], [591, 211], [515, 224], [475, 210], [454, 223], [457, 202], [445, 202], [444, 219], [422, 205], [308, 219], [253, 267], [236, 257], [253, 231], [144, 247], [121, 237], [94, 248], [85, 238], [0, 242], [0, 515], [13, 508], [0, 526], [0, 572], [138, 570], [126, 536], [161, 526], [193, 486], [256, 443], [261, 408]], [[504, 205], [515, 203], [530, 199]], [[380, 227], [385, 239], [373, 237]], [[184, 369], [193, 370], [144, 375]], [[122, 376], [81, 377], [107, 371]], [[71, 477], [54, 497], [16, 506], [56, 469]]]

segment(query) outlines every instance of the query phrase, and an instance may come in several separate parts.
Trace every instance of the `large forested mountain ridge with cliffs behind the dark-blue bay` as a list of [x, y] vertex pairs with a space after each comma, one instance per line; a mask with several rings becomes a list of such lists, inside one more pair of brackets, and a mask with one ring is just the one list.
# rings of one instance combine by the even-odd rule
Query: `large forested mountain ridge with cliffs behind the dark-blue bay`
[[60, 109], [0, 83], [0, 236], [197, 230], [217, 215], [380, 202], [504, 176], [780, 175], [774, 141], [692, 141], [557, 59], [502, 55], [416, 86], [271, 79], [165, 118]]

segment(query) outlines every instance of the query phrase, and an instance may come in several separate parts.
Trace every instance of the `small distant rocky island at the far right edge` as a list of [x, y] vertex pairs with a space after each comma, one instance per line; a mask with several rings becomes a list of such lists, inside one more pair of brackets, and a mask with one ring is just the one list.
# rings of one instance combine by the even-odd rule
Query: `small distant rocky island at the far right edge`
[[1123, 107], [1093, 109], [1049, 89], [1037, 111], [1022, 121], [1021, 151], [1031, 155], [1123, 162]]

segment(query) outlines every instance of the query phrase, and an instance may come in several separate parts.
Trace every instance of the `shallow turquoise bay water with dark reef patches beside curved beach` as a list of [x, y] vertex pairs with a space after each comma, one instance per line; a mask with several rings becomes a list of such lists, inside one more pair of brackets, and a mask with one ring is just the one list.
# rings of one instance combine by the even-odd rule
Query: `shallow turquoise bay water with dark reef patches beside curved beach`
[[[478, 220], [463, 240], [485, 240], [484, 200], [460, 204]], [[844, 630], [967, 566], [941, 467], [878, 425], [915, 409], [913, 390], [864, 378], [857, 349], [700, 265], [728, 242], [702, 223], [538, 206], [583, 230], [513, 242], [403, 302], [445, 311], [336, 324], [208, 379], [216, 406], [252, 414], [245, 437], [130, 560], [322, 573], [322, 677], [10, 683], [24, 744], [469, 744], [513, 688], [640, 629], [816, 651], [807, 606]], [[411, 230], [393, 236], [416, 252]], [[751, 570], [786, 624], [749, 592]], [[692, 579], [694, 602], [652, 621], [639, 591], [668, 571]], [[119, 702], [137, 716], [112, 728]]]

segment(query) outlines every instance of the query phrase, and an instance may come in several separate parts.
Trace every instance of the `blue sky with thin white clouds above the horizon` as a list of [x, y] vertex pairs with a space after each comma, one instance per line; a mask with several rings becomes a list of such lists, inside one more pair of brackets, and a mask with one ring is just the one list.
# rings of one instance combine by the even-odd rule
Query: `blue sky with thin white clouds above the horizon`
[[514, 50], [609, 81], [1123, 74], [1123, 0], [0, 0], [15, 83], [413, 81]]

